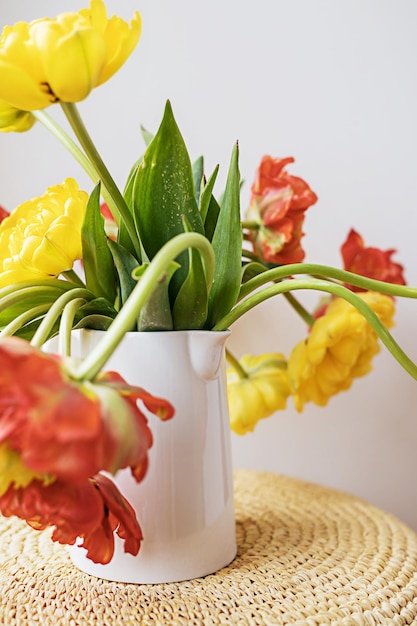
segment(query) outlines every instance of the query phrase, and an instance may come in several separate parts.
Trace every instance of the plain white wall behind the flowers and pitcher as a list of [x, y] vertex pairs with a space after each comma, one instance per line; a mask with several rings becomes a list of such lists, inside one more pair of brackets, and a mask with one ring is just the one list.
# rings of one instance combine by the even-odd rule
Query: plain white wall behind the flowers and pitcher
[[[1, 25], [82, 0], [2, 0]], [[292, 172], [319, 195], [305, 224], [307, 259], [341, 264], [354, 226], [369, 245], [399, 250], [417, 285], [417, 4], [414, 0], [108, 0], [125, 18], [138, 8], [143, 35], [132, 58], [80, 105], [123, 185], [142, 152], [139, 126], [155, 131], [173, 104], [190, 154], [219, 162], [239, 139], [247, 180], [265, 153], [293, 155]], [[55, 113], [53, 109], [50, 112]], [[58, 113], [58, 110], [56, 111]], [[0, 136], [0, 204], [9, 209], [68, 175], [90, 182], [47, 131]], [[218, 188], [220, 190], [220, 187]], [[417, 302], [398, 302], [395, 337], [417, 359]], [[234, 327], [238, 354], [289, 353], [303, 324], [284, 301]], [[349, 491], [417, 530], [417, 385], [384, 351], [374, 372], [329, 406], [292, 406], [233, 436], [237, 467], [272, 470]]]

